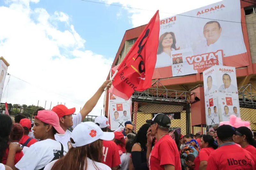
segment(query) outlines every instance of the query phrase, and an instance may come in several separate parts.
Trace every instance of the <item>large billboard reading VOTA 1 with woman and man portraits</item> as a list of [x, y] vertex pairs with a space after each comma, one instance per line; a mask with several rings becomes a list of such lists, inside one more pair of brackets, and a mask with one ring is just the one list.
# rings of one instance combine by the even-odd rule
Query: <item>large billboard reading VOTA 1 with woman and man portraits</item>
[[214, 65], [249, 65], [240, 0], [223, 0], [160, 20], [152, 79], [201, 73]]

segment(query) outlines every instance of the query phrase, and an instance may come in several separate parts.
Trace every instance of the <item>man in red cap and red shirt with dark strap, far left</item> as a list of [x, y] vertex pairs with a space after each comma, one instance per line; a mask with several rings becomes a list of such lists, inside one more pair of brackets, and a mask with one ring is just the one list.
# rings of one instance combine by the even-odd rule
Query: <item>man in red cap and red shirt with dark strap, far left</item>
[[24, 129], [24, 134], [23, 134], [22, 138], [20, 139], [19, 143], [22, 144], [22, 146], [27, 146], [27, 147], [36, 143], [37, 142], [36, 139], [32, 139], [28, 136], [28, 133], [31, 132], [31, 121], [27, 118], [21, 119], [20, 125]]

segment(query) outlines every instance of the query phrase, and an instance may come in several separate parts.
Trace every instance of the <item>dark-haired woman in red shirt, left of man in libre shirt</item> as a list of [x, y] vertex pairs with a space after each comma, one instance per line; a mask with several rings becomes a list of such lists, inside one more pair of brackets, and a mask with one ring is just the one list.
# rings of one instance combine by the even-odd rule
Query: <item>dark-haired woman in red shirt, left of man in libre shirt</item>
[[200, 146], [201, 150], [194, 161], [195, 169], [205, 170], [209, 155], [218, 148], [218, 144], [211, 135], [203, 135]]

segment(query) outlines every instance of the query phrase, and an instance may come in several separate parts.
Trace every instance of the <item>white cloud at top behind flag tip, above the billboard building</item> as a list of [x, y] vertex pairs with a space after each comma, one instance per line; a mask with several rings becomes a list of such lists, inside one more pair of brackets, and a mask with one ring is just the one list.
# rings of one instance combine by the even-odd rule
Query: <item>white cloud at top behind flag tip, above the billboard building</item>
[[150, 18], [153, 17], [155, 12], [159, 10], [159, 17], [167, 18], [173, 16], [175, 14], [180, 14], [186, 11], [190, 11], [202, 6], [206, 6], [212, 3], [216, 3], [220, 0], [157, 0], [157, 1], [147, 1], [147, 0], [102, 0], [107, 4], [118, 3], [122, 6], [146, 9], [132, 9], [132, 8], [124, 8], [127, 10], [131, 16], [129, 16], [130, 21], [132, 22], [133, 27], [141, 26], [147, 24]]

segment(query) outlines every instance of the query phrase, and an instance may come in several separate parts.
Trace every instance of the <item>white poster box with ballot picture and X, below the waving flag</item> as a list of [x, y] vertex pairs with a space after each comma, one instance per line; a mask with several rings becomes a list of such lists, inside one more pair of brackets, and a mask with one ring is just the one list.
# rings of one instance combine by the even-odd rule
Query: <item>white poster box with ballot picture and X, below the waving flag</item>
[[109, 97], [109, 120], [110, 129], [124, 129], [124, 123], [132, 120], [132, 100], [124, 100], [113, 93]]

